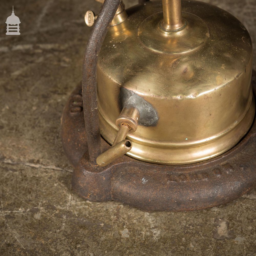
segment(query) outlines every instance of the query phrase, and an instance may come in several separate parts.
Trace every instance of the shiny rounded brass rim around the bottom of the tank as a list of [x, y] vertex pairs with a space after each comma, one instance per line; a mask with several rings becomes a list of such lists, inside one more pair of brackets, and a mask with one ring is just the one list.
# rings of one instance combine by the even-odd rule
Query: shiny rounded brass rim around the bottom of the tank
[[[133, 146], [127, 155], [143, 162], [162, 165], [182, 165], [202, 162], [219, 156], [234, 147], [250, 129], [254, 119], [254, 114], [255, 102], [253, 97], [246, 115], [233, 129], [216, 140], [199, 146], [187, 148], [152, 147], [133, 141], [131, 136], [128, 135], [127, 138], [131, 140]], [[99, 121], [102, 137], [109, 144], [112, 144], [117, 130], [111, 127], [103, 118], [100, 112], [100, 105]]]

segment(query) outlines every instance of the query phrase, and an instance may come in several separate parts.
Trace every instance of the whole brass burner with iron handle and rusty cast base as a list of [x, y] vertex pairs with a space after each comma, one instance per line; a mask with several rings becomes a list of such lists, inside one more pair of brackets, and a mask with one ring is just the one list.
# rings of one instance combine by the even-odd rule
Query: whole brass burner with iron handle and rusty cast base
[[74, 190], [147, 211], [202, 209], [246, 193], [256, 182], [246, 28], [197, 1], [127, 10], [97, 1], [97, 19], [86, 16], [82, 90], [62, 115]]

